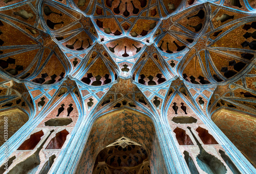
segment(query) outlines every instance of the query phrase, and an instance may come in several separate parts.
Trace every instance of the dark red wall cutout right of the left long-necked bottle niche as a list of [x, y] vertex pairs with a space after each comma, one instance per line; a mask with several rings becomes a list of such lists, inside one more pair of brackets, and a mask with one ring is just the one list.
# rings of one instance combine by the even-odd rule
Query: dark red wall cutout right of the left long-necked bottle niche
[[55, 137], [51, 139], [46, 149], [60, 149], [67, 139], [69, 132], [65, 129], [56, 133]]

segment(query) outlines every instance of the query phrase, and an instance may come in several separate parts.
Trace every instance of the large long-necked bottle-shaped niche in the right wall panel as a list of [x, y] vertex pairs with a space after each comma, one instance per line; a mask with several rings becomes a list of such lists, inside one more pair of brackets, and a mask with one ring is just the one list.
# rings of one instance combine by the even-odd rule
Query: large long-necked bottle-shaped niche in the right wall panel
[[198, 162], [199, 167], [206, 173], [225, 174], [227, 169], [226, 169], [225, 165], [221, 162], [221, 160], [219, 160], [215, 156], [207, 153], [204, 150], [204, 148], [202, 147], [202, 145], [200, 144], [200, 142], [198, 141], [198, 139], [196, 138], [196, 136], [194, 135], [194, 133], [191, 131], [191, 128], [187, 127], [187, 129], [190, 131], [190, 133], [196, 140], [197, 145], [200, 150], [200, 153], [197, 156], [197, 162]]

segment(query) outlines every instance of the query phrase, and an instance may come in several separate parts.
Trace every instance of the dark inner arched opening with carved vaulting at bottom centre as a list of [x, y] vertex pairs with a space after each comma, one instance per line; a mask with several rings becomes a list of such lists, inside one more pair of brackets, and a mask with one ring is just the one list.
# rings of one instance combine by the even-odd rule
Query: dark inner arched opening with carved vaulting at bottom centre
[[93, 167], [93, 174], [143, 173], [143, 171], [147, 174], [151, 173], [148, 154], [140, 144], [126, 137], [121, 137], [103, 148], [97, 155]]

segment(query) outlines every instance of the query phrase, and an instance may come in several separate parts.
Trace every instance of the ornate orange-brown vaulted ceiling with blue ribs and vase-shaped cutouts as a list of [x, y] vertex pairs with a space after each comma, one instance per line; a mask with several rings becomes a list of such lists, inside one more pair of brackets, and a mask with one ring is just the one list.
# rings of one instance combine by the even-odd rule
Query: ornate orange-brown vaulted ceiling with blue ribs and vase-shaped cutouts
[[[198, 85], [241, 76], [253, 62], [252, 1], [4, 1], [1, 67], [54, 84], [68, 75], [100, 86], [118, 76]], [[220, 6], [221, 5], [221, 6]]]

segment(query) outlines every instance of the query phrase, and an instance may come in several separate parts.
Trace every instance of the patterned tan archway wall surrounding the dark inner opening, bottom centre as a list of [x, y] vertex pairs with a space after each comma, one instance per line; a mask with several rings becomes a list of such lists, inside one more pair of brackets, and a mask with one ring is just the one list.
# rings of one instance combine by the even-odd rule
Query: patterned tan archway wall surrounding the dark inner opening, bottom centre
[[[107, 130], [104, 130], [105, 128]], [[130, 109], [112, 111], [94, 121], [75, 173], [91, 173], [102, 148], [122, 136], [141, 144], [147, 151], [151, 173], [166, 173], [153, 121], [146, 115]]]

